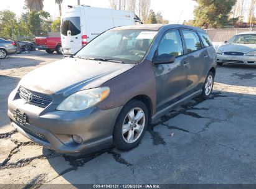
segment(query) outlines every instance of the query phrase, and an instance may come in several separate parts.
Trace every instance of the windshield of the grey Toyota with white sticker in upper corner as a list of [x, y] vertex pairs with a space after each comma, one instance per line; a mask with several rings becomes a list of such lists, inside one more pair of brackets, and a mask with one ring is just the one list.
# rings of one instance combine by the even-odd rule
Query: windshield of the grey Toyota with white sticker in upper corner
[[138, 63], [146, 55], [157, 31], [109, 30], [83, 47], [75, 56]]

